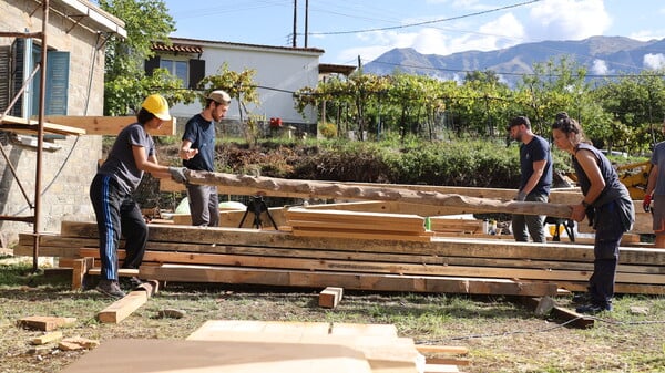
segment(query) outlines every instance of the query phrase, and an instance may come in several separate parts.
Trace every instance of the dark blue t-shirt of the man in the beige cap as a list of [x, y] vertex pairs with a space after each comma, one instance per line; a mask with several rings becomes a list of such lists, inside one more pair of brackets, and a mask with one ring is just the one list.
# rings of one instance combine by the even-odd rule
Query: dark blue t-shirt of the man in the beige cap
[[196, 170], [215, 170], [215, 122], [194, 115], [185, 125], [183, 141], [190, 141], [198, 149], [192, 159], [183, 159], [183, 166]]

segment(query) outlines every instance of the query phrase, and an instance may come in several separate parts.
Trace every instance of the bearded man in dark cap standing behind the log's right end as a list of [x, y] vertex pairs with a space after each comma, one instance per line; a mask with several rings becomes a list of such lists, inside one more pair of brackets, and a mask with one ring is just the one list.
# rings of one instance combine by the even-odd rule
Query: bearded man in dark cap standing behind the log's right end
[[[520, 190], [515, 200], [546, 203], [552, 186], [552, 154], [550, 144], [531, 132], [531, 122], [525, 116], [518, 116], [508, 126], [510, 136], [520, 142]], [[512, 231], [516, 241], [546, 241], [544, 215], [513, 215]], [[529, 235], [526, 231], [529, 230]]]

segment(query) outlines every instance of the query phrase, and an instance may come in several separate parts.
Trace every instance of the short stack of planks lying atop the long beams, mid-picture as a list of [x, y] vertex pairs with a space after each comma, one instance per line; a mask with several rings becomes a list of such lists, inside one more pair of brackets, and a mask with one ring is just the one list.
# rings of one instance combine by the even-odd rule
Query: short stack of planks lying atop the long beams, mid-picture
[[418, 215], [290, 208], [285, 216], [294, 236], [410, 241], [429, 241], [432, 237], [424, 229], [424, 218]]

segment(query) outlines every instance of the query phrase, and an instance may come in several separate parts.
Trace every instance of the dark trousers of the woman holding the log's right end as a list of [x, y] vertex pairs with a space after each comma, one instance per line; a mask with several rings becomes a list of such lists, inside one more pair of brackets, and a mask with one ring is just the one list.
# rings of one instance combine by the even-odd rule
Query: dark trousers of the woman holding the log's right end
[[595, 303], [604, 305], [611, 304], [614, 297], [618, 245], [624, 227], [615, 201], [596, 208], [595, 219], [593, 274], [589, 279], [589, 292]]

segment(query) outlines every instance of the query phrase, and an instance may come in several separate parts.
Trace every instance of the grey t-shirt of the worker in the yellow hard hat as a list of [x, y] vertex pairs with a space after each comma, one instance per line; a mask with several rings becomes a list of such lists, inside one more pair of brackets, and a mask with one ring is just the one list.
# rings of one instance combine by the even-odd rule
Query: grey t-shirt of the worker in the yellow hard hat
[[127, 193], [134, 193], [143, 177], [143, 172], [136, 167], [133, 146], [144, 147], [146, 157], [155, 154], [155, 143], [140, 123], [131, 124], [117, 134], [109, 157], [98, 170], [98, 174], [113, 176]]

